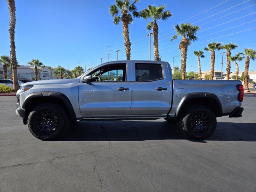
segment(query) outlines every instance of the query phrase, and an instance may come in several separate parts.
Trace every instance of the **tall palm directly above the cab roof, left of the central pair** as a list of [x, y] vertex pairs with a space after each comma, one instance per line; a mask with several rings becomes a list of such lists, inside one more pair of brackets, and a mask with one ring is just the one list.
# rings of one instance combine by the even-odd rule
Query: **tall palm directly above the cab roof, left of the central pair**
[[[126, 51], [126, 59], [131, 59], [131, 42], [129, 37], [129, 24], [133, 22], [132, 15], [134, 17], [138, 17], [139, 14], [136, 11], [137, 8], [135, 3], [139, 0], [134, 0], [132, 4], [130, 4], [130, 0], [116, 0], [116, 4], [110, 5], [109, 13], [114, 17], [114, 24], [118, 25], [120, 20], [122, 20], [123, 24], [123, 36], [124, 36], [124, 46]], [[122, 16], [120, 16], [122, 15]]]

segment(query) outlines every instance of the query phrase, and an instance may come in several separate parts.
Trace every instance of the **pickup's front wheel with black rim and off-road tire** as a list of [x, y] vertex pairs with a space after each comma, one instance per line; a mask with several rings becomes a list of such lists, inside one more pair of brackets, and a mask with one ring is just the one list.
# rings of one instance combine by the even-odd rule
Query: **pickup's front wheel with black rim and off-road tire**
[[54, 140], [62, 136], [69, 124], [66, 110], [52, 103], [41, 104], [28, 115], [28, 129], [41, 140]]

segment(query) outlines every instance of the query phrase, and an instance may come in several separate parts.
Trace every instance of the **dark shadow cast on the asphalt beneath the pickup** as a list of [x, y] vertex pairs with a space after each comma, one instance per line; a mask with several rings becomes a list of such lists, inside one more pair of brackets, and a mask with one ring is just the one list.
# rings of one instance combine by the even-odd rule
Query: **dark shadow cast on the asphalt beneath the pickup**
[[[72, 123], [58, 141], [144, 141], [191, 140], [178, 124], [162, 121], [82, 121]], [[206, 140], [256, 141], [256, 123], [218, 122], [212, 136]]]

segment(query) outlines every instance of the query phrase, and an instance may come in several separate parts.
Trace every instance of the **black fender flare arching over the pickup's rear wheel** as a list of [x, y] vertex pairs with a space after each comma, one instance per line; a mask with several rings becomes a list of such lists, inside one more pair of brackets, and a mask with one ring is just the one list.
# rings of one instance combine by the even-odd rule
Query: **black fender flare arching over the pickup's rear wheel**
[[189, 93], [186, 94], [180, 101], [180, 103], [178, 104], [177, 110], [176, 110], [176, 114], [175, 117], [180, 116], [180, 113], [182, 112], [184, 106], [186, 105], [186, 103], [192, 99], [192, 98], [211, 98], [214, 99], [218, 105], [218, 109], [219, 109], [219, 116], [223, 115], [222, 112], [222, 104], [220, 102], [220, 99], [216, 96], [216, 94], [213, 93]]

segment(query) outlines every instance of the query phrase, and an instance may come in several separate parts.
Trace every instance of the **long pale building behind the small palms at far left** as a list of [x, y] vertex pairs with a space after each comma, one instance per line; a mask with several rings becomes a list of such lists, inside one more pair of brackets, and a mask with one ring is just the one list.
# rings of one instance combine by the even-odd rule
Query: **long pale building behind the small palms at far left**
[[[20, 65], [20, 67], [17, 68], [17, 74], [18, 79], [32, 79], [32, 77], [35, 77], [34, 74], [35, 68], [29, 65]], [[48, 66], [44, 68], [40, 68], [38, 72], [38, 78], [41, 78], [41, 80], [47, 80], [47, 79], [56, 79], [56, 76], [54, 76], [54, 69], [51, 71], [48, 69]], [[11, 70], [8, 69], [8, 77], [11, 78]], [[0, 64], [0, 78], [3, 78], [3, 65]]]

